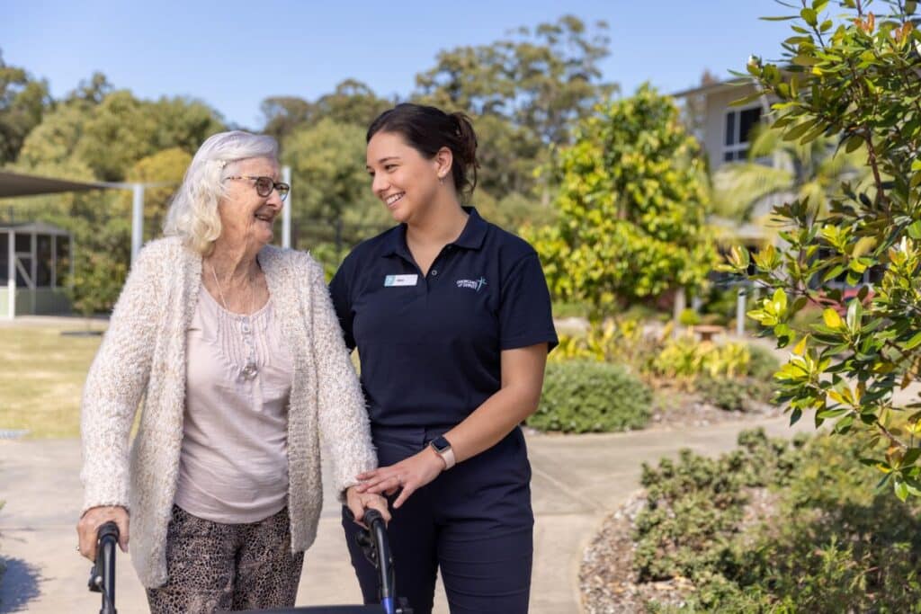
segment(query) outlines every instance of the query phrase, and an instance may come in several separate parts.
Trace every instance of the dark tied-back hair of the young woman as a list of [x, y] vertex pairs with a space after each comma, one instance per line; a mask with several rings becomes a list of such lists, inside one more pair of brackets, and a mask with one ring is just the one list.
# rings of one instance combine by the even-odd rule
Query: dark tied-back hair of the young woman
[[451, 178], [461, 195], [469, 196], [476, 187], [476, 134], [470, 118], [461, 113], [446, 113], [435, 107], [404, 102], [385, 110], [367, 129], [367, 141], [377, 133], [400, 134], [407, 145], [426, 158], [433, 158], [442, 147], [454, 156]]

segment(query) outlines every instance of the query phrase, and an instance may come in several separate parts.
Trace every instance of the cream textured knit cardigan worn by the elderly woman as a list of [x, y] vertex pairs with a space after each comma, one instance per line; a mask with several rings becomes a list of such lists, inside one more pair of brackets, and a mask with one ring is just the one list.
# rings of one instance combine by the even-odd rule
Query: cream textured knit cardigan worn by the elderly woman
[[[307, 253], [267, 246], [259, 263], [288, 350], [291, 550], [307, 550], [322, 504], [320, 437], [337, 492], [377, 466], [367, 411], [321, 266]], [[186, 330], [201, 287], [202, 258], [179, 237], [141, 251], [89, 368], [83, 391], [83, 509], [123, 505], [131, 555], [147, 587], [167, 581], [166, 536], [176, 492], [185, 410]], [[129, 453], [134, 413], [140, 429]], [[130, 459], [129, 459], [130, 457]]]

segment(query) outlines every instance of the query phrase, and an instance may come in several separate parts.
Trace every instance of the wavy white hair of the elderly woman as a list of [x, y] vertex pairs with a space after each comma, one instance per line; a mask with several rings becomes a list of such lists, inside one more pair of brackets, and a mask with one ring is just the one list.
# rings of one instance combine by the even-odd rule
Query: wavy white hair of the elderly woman
[[223, 180], [233, 174], [235, 163], [253, 157], [277, 160], [278, 143], [271, 136], [240, 130], [209, 136], [195, 152], [169, 204], [163, 233], [182, 237], [203, 256], [210, 253], [221, 234], [217, 204], [227, 195]]

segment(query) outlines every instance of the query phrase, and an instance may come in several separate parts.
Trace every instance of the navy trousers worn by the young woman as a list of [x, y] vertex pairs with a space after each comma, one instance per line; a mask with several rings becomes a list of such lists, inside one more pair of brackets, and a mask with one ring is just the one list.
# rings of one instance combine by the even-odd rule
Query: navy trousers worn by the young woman
[[[380, 466], [413, 456], [448, 429], [372, 427]], [[451, 614], [528, 611], [534, 516], [518, 428], [441, 473], [391, 513], [397, 595], [409, 600], [414, 614], [431, 612], [439, 569]], [[356, 545], [360, 527], [345, 516], [343, 527], [365, 602], [379, 603], [377, 572]]]

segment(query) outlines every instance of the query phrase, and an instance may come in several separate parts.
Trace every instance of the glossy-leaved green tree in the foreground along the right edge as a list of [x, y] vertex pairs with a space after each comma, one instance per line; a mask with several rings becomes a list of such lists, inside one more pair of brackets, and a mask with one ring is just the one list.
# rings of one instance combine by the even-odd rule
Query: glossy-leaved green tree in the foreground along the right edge
[[[817, 425], [867, 446], [866, 462], [905, 499], [921, 495], [921, 403], [897, 391], [921, 377], [921, 34], [914, 0], [844, 0], [842, 17], [825, 17], [827, 0], [802, 2], [794, 36], [784, 43], [792, 68], [752, 58], [749, 73], [777, 98], [774, 130], [809, 144], [822, 135], [859, 153], [871, 181], [849, 181], [822, 213], [812, 199], [775, 208], [786, 241], [754, 257], [752, 278], [774, 290], [750, 316], [779, 347], [794, 343], [776, 374], [779, 400], [791, 422], [807, 411]], [[785, 5], [787, 6], [787, 5]], [[822, 252], [828, 258], [818, 258]], [[743, 272], [748, 253], [735, 249], [728, 267]], [[857, 284], [870, 267], [881, 271], [873, 295], [854, 299], [828, 282], [845, 273]], [[822, 322], [795, 329], [791, 319], [812, 304]], [[881, 449], [880, 449], [881, 446]]]

